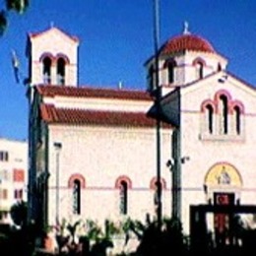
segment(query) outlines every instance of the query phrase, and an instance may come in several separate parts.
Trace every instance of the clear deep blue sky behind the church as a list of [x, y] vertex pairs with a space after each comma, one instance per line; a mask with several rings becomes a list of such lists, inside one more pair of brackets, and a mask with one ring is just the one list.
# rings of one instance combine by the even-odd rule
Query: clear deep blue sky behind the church
[[[179, 34], [183, 23], [207, 38], [229, 61], [227, 70], [256, 85], [256, 1], [159, 0], [160, 43]], [[55, 27], [80, 38], [79, 84], [146, 90], [145, 61], [154, 53], [153, 0], [31, 0], [23, 16], [9, 15], [0, 38], [0, 137], [27, 140], [26, 88], [16, 84], [11, 50], [28, 75], [28, 32]], [[3, 0], [0, 2], [3, 3]]]

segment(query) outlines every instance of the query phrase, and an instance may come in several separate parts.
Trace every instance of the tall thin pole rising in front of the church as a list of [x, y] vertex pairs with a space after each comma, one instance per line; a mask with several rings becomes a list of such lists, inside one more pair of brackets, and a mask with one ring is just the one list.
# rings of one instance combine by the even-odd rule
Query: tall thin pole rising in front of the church
[[162, 203], [161, 203], [161, 176], [160, 176], [160, 74], [159, 74], [159, 44], [160, 44], [160, 5], [159, 0], [154, 1], [154, 46], [155, 46], [155, 66], [156, 66], [156, 106], [157, 106], [157, 194], [158, 226], [161, 228]]

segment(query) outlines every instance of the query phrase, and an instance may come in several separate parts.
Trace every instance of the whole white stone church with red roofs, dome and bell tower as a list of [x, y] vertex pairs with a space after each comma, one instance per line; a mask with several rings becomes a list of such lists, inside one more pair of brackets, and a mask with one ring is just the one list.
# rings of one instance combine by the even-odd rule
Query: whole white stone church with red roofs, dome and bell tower
[[56, 28], [28, 35], [33, 220], [156, 217], [156, 70], [162, 216], [188, 233], [191, 205], [255, 203], [256, 91], [208, 40], [167, 40], [145, 91], [78, 85], [78, 47]]

